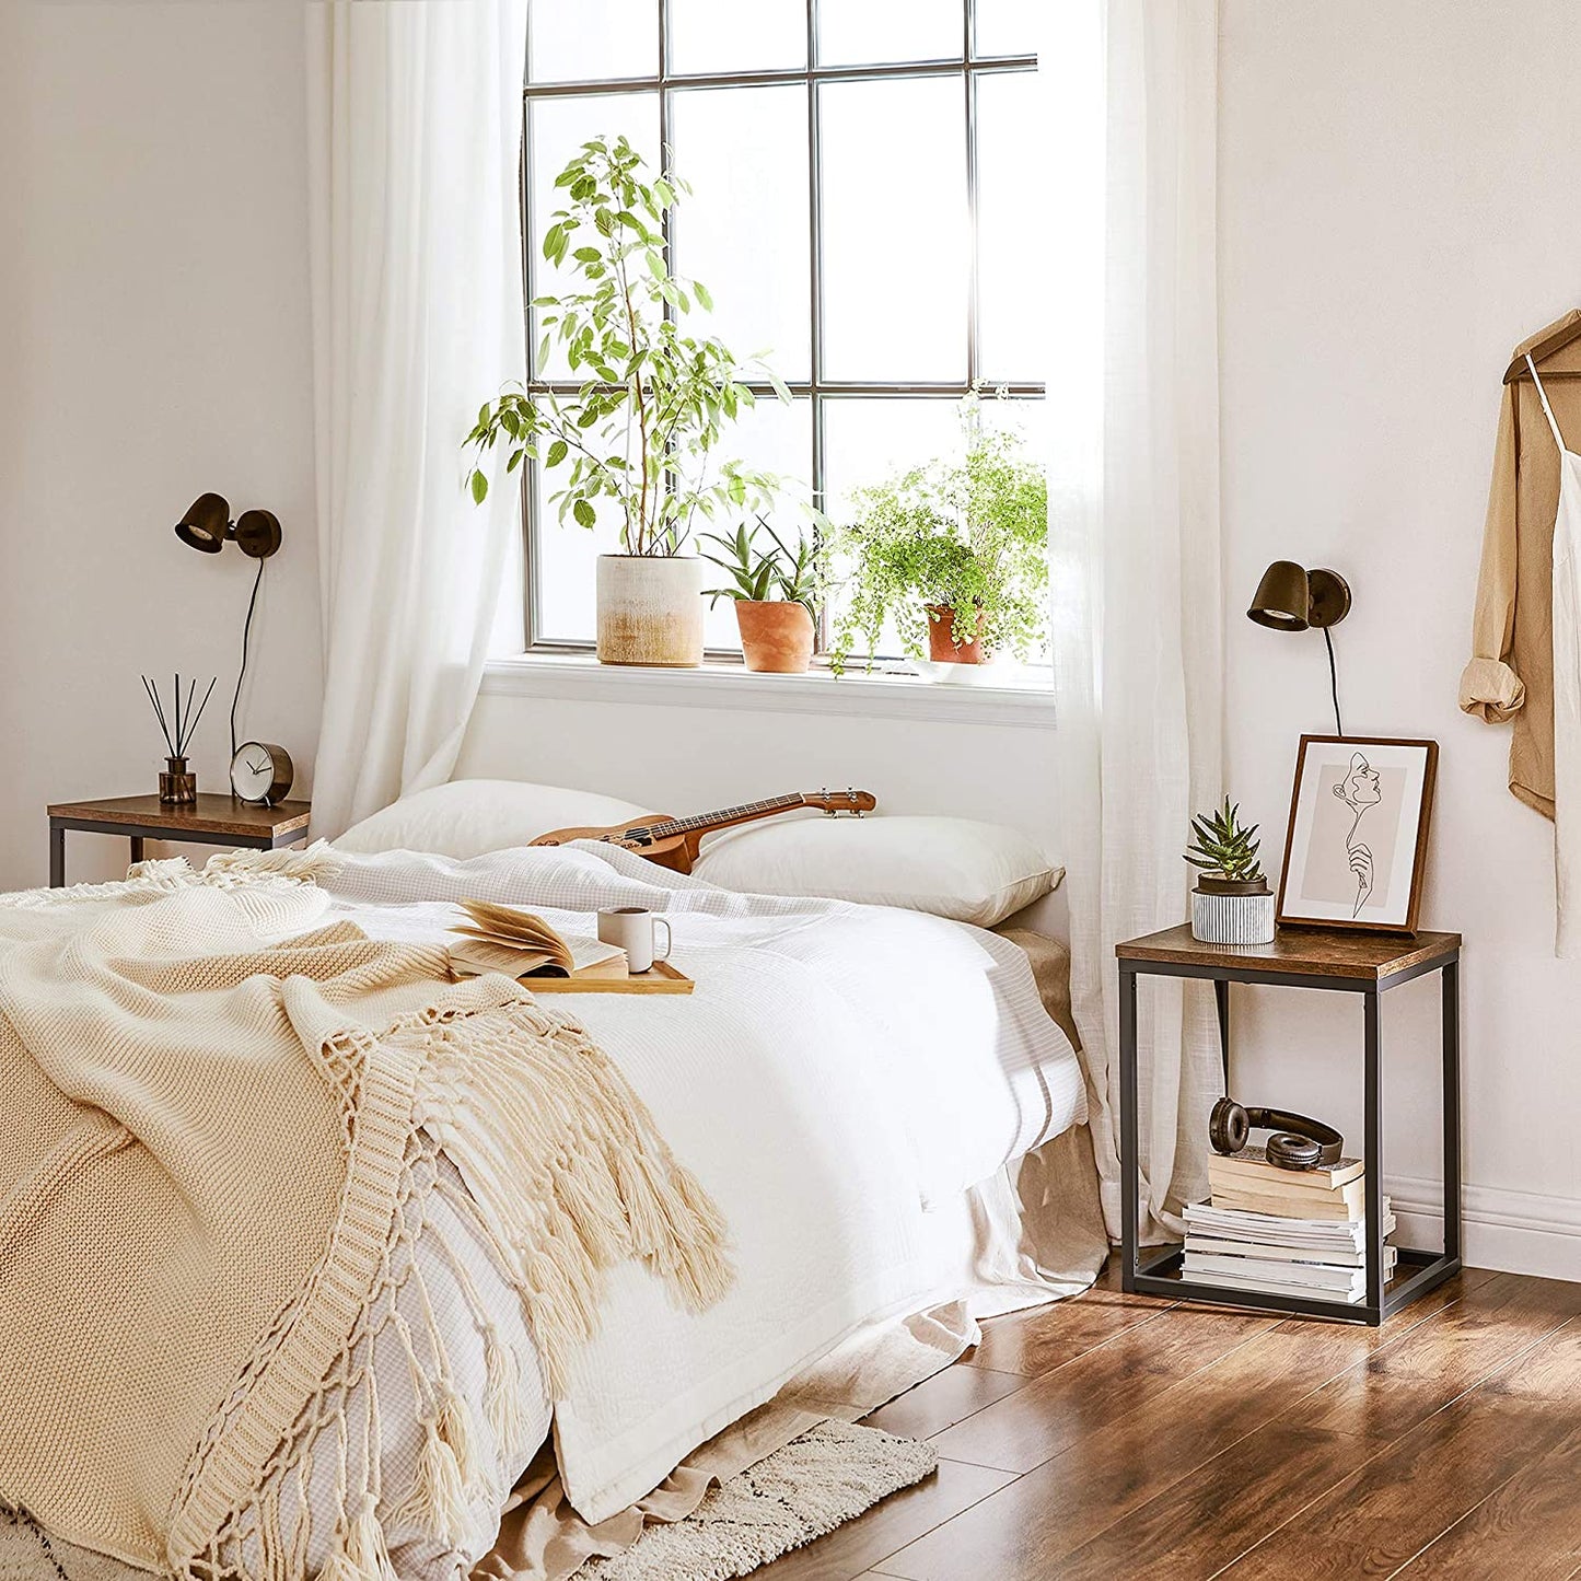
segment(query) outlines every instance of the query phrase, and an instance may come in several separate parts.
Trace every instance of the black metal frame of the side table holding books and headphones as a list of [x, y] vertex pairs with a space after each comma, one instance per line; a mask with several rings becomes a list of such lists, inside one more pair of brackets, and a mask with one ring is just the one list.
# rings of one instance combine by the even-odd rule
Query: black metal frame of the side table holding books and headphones
[[[1290, 1312], [1301, 1317], [1338, 1317], [1377, 1326], [1391, 1312], [1417, 1296], [1443, 1284], [1461, 1268], [1461, 1026], [1459, 1026], [1459, 949], [1447, 957], [1420, 961], [1377, 980], [1364, 977], [1317, 977], [1301, 972], [1249, 971], [1236, 966], [1200, 963], [1119, 960], [1119, 1183], [1121, 1183], [1121, 1285], [1143, 1295], [1165, 1295], [1181, 1301], [1208, 1301], [1221, 1306], [1243, 1306], [1266, 1312]], [[1383, 1070], [1382, 1034], [1379, 1028], [1380, 999], [1390, 988], [1440, 974], [1442, 1043], [1443, 1043], [1443, 1251], [1428, 1252], [1398, 1247], [1399, 1266], [1412, 1268], [1409, 1276], [1383, 1287]], [[1219, 1010], [1219, 1050], [1224, 1059], [1225, 1089], [1230, 1080], [1230, 983], [1271, 988], [1317, 988], [1334, 993], [1361, 994], [1364, 1015], [1366, 1067], [1363, 1075], [1366, 1104], [1366, 1211], [1368, 1211], [1368, 1292], [1361, 1304], [1347, 1301], [1307, 1300], [1304, 1296], [1270, 1295], [1255, 1290], [1230, 1290], [1200, 1284], [1179, 1274], [1184, 1249], [1168, 1247], [1162, 1255], [1141, 1262], [1137, 1235], [1140, 1209], [1140, 1159], [1137, 1148], [1137, 977], [1205, 977], [1213, 980]], [[1149, 1252], [1154, 1249], [1149, 1247]]]

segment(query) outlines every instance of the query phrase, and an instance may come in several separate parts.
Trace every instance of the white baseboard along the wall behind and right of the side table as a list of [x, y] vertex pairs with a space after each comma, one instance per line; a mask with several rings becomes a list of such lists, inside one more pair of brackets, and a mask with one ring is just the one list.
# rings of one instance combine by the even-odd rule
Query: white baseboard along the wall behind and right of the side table
[[[1393, 1176], [1401, 1246], [1443, 1244], [1443, 1187], [1437, 1181]], [[1581, 1200], [1540, 1197], [1494, 1186], [1461, 1189], [1461, 1262], [1470, 1268], [1581, 1281]]]

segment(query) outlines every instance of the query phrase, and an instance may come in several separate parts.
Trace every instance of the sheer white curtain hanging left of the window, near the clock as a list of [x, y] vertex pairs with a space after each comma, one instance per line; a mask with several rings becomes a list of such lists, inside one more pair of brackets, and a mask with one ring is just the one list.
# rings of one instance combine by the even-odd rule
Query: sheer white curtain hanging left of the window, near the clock
[[308, 136], [324, 718], [313, 828], [449, 776], [514, 490], [462, 438], [525, 376], [526, 0], [311, 0]]

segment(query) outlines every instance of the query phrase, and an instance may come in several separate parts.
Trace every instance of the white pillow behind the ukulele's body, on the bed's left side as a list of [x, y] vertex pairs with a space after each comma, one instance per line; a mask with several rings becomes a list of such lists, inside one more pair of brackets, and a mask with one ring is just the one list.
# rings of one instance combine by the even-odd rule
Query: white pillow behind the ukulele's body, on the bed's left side
[[591, 790], [533, 786], [515, 779], [452, 779], [402, 797], [365, 817], [335, 841], [337, 851], [433, 851], [479, 857], [485, 851], [530, 846], [555, 828], [629, 824], [651, 808]]

